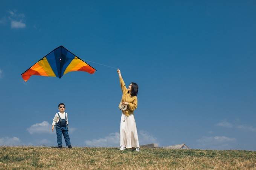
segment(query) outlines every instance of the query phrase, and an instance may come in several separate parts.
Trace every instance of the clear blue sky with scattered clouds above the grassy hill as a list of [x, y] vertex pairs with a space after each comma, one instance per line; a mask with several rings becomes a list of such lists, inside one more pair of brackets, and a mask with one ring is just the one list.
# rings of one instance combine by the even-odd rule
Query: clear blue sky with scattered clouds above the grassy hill
[[56, 146], [58, 104], [73, 146], [119, 146], [116, 69], [21, 78], [63, 45], [139, 84], [140, 144], [256, 150], [256, 3], [2, 1], [0, 145]]

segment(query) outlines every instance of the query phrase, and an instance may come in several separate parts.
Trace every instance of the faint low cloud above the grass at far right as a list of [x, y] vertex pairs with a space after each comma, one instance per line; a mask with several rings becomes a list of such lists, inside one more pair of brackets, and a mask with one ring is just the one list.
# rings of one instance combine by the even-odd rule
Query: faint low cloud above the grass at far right
[[235, 138], [226, 136], [202, 137], [196, 140], [200, 149], [231, 149], [230, 143], [236, 141]]

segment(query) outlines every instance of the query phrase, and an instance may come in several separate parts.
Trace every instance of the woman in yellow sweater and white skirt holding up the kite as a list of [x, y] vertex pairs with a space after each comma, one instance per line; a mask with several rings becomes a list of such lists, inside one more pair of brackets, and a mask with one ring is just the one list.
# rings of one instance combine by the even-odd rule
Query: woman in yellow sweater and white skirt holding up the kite
[[127, 89], [119, 69], [117, 69], [117, 73], [119, 75], [120, 85], [123, 93], [119, 108], [121, 108], [122, 105], [127, 105], [126, 110], [122, 110], [121, 116], [120, 150], [136, 147], [136, 151], [139, 152], [140, 145], [133, 115], [133, 111], [137, 108], [137, 94], [139, 86], [136, 83], [131, 83]]

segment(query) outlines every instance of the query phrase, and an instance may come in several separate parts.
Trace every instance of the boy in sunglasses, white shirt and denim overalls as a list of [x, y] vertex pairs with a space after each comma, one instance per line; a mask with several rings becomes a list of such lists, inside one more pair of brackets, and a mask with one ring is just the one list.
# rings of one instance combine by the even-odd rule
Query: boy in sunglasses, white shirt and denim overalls
[[65, 104], [64, 103], [60, 103], [59, 106], [59, 112], [55, 114], [54, 118], [53, 118], [53, 122], [52, 122], [52, 131], [54, 129], [54, 126], [56, 125], [56, 134], [57, 134], [57, 143], [58, 143], [58, 147], [62, 148], [62, 136], [61, 136], [61, 132], [64, 136], [65, 142], [66, 142], [66, 146], [68, 148], [72, 148], [71, 144], [70, 144], [70, 139], [69, 139], [69, 127], [68, 127], [68, 120], [67, 120], [67, 113], [65, 112]]

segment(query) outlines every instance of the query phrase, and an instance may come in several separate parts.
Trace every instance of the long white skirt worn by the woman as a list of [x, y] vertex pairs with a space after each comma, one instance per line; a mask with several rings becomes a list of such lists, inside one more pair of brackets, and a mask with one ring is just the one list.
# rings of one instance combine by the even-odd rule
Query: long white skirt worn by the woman
[[122, 113], [120, 123], [120, 146], [126, 148], [140, 147], [134, 115]]

